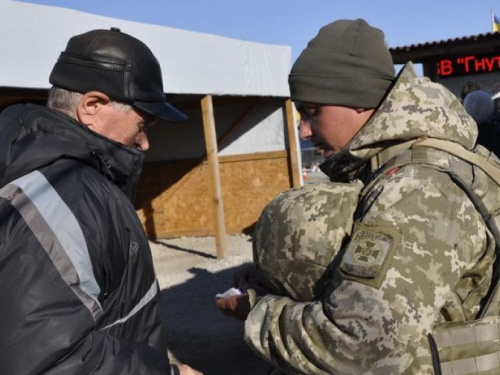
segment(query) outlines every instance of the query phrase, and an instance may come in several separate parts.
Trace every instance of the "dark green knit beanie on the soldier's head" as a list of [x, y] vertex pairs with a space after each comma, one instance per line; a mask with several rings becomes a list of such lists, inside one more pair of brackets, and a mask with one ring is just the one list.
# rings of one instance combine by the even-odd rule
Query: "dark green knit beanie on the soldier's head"
[[339, 20], [319, 31], [288, 77], [293, 101], [376, 108], [395, 77], [384, 33], [365, 20]]

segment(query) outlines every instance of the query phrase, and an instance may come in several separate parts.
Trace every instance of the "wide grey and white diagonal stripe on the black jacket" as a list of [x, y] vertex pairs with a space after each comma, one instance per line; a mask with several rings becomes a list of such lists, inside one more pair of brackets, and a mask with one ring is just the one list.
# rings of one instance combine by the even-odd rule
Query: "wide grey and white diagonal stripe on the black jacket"
[[85, 237], [75, 216], [49, 181], [34, 171], [4, 186], [0, 196], [11, 201], [62, 279], [97, 320], [102, 314], [97, 300], [100, 288]]

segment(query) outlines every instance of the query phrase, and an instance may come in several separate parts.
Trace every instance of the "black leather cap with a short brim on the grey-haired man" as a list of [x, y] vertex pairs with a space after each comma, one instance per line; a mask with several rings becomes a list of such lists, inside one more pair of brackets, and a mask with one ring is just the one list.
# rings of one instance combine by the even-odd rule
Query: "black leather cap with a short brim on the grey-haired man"
[[187, 119], [166, 101], [160, 64], [151, 50], [117, 28], [72, 37], [49, 81], [70, 91], [103, 92], [162, 120]]

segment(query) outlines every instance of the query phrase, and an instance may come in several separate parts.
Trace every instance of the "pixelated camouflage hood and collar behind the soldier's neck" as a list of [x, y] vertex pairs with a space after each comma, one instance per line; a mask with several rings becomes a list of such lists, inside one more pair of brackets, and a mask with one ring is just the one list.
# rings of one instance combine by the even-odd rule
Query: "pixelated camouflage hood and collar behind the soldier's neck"
[[359, 177], [362, 167], [387, 147], [420, 137], [451, 140], [471, 149], [477, 126], [458, 98], [406, 64], [363, 128], [320, 167], [333, 181]]

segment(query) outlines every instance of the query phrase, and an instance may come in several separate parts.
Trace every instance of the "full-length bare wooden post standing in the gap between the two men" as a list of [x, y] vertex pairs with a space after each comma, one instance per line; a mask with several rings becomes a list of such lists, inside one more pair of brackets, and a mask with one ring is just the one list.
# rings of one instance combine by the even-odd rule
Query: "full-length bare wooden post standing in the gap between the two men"
[[224, 202], [222, 199], [222, 185], [219, 169], [219, 150], [217, 147], [217, 134], [215, 131], [214, 107], [212, 95], [207, 95], [201, 100], [203, 113], [203, 130], [205, 132], [205, 146], [207, 161], [214, 186], [213, 209], [215, 215], [215, 248], [217, 258], [226, 257], [226, 224], [224, 222]]

